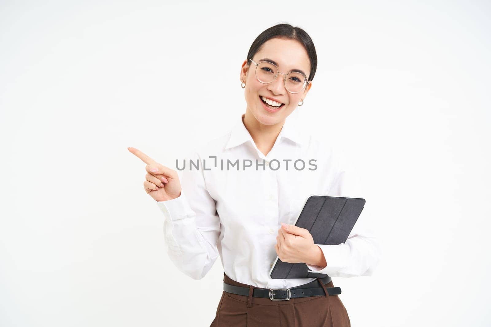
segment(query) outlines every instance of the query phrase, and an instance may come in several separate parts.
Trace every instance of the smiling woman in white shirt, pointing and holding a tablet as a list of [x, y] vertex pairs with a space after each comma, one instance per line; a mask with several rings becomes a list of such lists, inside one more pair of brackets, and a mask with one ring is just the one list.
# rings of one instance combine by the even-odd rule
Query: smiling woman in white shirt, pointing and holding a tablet
[[[270, 27], [242, 63], [246, 112], [227, 134], [192, 152], [181, 178], [129, 148], [147, 164], [143, 185], [164, 213], [174, 264], [200, 279], [220, 256], [224, 291], [211, 326], [350, 326], [331, 277], [370, 276], [377, 264], [363, 214], [339, 245], [314, 244], [308, 230], [294, 226], [311, 194], [363, 196], [332, 145], [297, 124], [316, 67], [303, 29]], [[327, 277], [273, 279], [276, 256]]]

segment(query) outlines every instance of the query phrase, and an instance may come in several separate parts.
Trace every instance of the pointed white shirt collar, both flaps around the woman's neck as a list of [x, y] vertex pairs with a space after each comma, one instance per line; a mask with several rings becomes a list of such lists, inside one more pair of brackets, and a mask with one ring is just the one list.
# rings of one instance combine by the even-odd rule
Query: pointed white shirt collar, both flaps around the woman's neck
[[[225, 149], [236, 147], [247, 141], [250, 141], [252, 144], [254, 144], [254, 141], [252, 140], [249, 131], [247, 130], [246, 126], [244, 126], [244, 123], [242, 121], [242, 117], [244, 117], [244, 115], [245, 114], [242, 114], [239, 117], [236, 124], [232, 128], [232, 131], [230, 132], [230, 139], [228, 140]], [[297, 121], [298, 119], [299, 118], [297, 112], [296, 111], [292, 112], [285, 119], [285, 123], [283, 124], [283, 127], [281, 128], [278, 137], [287, 138], [301, 146], [303, 144], [303, 139], [301, 137], [301, 133], [299, 130], [298, 121]]]

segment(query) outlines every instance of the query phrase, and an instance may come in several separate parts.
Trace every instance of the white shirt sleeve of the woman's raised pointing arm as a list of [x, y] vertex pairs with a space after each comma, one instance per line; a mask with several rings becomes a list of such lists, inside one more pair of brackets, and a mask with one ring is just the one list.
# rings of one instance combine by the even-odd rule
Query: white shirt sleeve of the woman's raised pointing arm
[[[199, 170], [192, 166], [199, 160]], [[157, 202], [164, 213], [167, 254], [174, 265], [193, 279], [203, 278], [218, 258], [220, 219], [216, 201], [206, 188], [203, 162], [194, 152], [186, 158], [186, 168], [178, 171], [181, 196]]]

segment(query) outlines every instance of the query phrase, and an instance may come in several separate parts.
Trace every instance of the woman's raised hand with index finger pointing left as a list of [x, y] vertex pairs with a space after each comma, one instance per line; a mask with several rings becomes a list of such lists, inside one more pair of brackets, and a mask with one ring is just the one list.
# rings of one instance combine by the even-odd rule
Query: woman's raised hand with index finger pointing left
[[155, 201], [167, 201], [181, 196], [181, 182], [175, 170], [172, 170], [150, 158], [136, 148], [128, 148], [147, 165], [143, 187]]

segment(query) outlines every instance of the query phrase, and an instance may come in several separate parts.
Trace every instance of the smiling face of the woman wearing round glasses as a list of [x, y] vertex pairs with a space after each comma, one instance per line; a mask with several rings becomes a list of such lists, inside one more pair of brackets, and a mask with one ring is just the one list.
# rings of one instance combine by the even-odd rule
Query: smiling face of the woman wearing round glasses
[[[288, 74], [294, 69], [300, 69], [307, 78], [310, 75], [310, 61], [307, 51], [296, 40], [274, 38], [266, 41], [252, 60], [259, 63], [265, 58], [275, 61], [278, 71], [281, 73]], [[256, 78], [256, 65], [251, 62], [250, 67], [247, 67], [248, 59], [246, 58], [242, 64], [240, 75], [241, 81], [246, 83], [244, 91], [247, 109], [263, 125], [274, 125], [283, 122], [297, 108], [299, 102], [305, 99], [312, 83], [307, 84], [303, 90], [296, 94], [292, 94], [285, 89], [283, 84], [285, 75], [283, 74], [278, 74], [273, 82], [263, 84]], [[284, 103], [284, 105], [275, 111], [268, 110], [261, 97]]]

